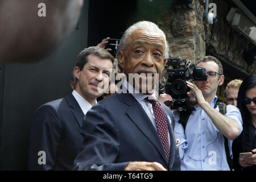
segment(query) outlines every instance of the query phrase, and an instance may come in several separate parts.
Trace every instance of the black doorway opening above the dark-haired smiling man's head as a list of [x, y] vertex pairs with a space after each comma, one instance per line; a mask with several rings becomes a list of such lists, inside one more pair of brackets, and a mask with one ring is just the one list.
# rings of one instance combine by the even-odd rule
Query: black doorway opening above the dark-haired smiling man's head
[[134, 23], [137, 1], [101, 1], [89, 3], [88, 46], [97, 46], [102, 39], [120, 39], [123, 31]]

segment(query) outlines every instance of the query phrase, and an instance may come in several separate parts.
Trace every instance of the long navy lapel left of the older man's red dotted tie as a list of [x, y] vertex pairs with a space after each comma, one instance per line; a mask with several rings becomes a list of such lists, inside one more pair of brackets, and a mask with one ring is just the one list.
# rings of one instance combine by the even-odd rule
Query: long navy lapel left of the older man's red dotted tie
[[142, 106], [131, 94], [120, 94], [120, 96], [121, 101], [130, 106], [126, 113], [130, 117], [131, 121], [133, 121], [141, 132], [150, 140], [167, 163], [166, 154], [164, 153], [159, 135]]

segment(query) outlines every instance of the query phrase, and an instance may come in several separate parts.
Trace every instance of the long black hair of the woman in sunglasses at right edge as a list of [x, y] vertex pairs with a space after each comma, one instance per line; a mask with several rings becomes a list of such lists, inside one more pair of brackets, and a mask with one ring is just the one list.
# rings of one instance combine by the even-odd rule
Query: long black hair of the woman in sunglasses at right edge
[[243, 80], [238, 91], [237, 107], [238, 109], [240, 109], [244, 125], [247, 124], [246, 120], [248, 119], [247, 117], [250, 117], [250, 112], [247, 109], [245, 102], [243, 101], [243, 98], [245, 98], [246, 90], [249, 90], [251, 88], [256, 88], [256, 75], [247, 76]]

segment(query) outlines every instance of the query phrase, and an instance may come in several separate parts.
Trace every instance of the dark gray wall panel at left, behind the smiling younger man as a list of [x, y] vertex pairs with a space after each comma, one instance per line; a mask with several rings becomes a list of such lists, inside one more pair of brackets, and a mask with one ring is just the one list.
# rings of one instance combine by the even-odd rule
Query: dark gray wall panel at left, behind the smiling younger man
[[71, 92], [77, 54], [87, 46], [88, 2], [76, 29], [38, 63], [0, 65], [0, 170], [27, 170], [28, 141], [36, 109]]

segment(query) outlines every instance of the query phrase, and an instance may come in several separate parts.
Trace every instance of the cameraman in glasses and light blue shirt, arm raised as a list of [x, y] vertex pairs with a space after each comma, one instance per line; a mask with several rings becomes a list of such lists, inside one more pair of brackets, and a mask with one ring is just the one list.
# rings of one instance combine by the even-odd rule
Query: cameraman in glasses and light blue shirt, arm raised
[[[229, 151], [234, 139], [241, 134], [242, 118], [237, 107], [228, 105], [226, 114], [219, 112], [216, 105], [217, 88], [224, 82], [220, 61], [205, 56], [197, 63], [207, 71], [207, 81], [187, 81], [195, 93], [197, 105], [188, 118], [185, 129], [179, 113], [175, 113], [175, 132], [180, 139], [181, 170], [230, 170], [226, 159], [224, 136], [228, 138]], [[191, 97], [191, 93], [188, 93]]]

